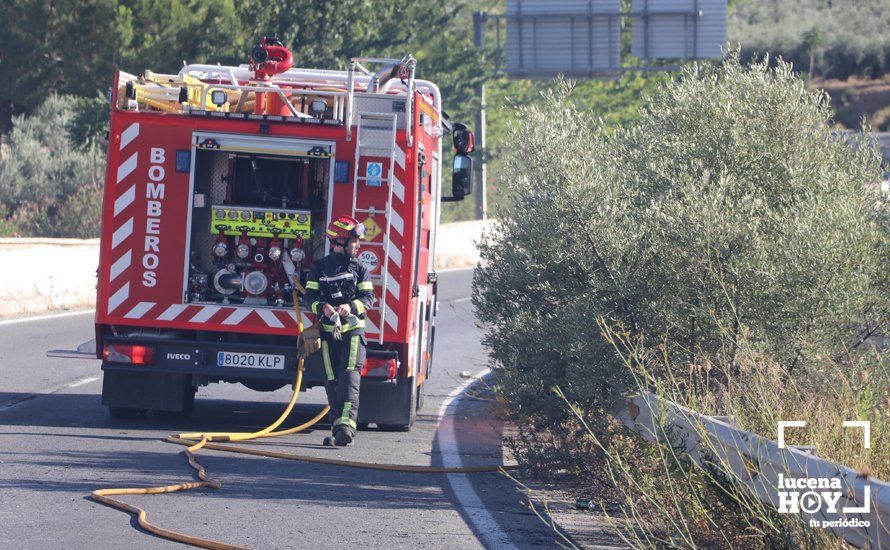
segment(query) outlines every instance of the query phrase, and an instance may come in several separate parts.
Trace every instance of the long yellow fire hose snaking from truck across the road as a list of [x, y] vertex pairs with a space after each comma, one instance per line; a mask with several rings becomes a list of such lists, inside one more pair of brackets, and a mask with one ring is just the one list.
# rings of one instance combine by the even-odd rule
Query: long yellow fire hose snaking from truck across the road
[[[297, 285], [299, 288], [299, 285]], [[303, 321], [300, 313], [300, 308], [298, 305], [298, 300], [296, 296], [296, 292], [294, 292], [294, 308], [297, 312], [297, 324], [299, 333], [303, 332]], [[199, 487], [209, 487], [211, 489], [220, 489], [222, 488], [222, 484], [214, 479], [211, 479], [207, 476], [207, 472], [204, 467], [198, 463], [195, 458], [195, 454], [201, 450], [202, 448], [213, 449], [217, 451], [225, 451], [230, 453], [241, 453], [247, 455], [254, 456], [265, 456], [270, 458], [283, 458], [285, 460], [297, 460], [301, 462], [312, 462], [315, 464], [330, 464], [333, 466], [349, 466], [353, 468], [365, 468], [370, 470], [384, 470], [391, 472], [409, 472], [409, 473], [478, 473], [478, 472], [497, 472], [501, 470], [515, 470], [517, 468], [516, 465], [502, 465], [502, 466], [471, 466], [466, 468], [442, 468], [435, 466], [399, 466], [395, 464], [374, 464], [370, 462], [357, 462], [350, 460], [337, 460], [330, 458], [320, 458], [308, 455], [297, 455], [291, 453], [278, 453], [272, 451], [264, 451], [260, 449], [251, 449], [248, 447], [232, 447], [228, 445], [219, 445], [217, 443], [213, 443], [215, 441], [248, 441], [251, 439], [260, 439], [265, 437], [279, 437], [283, 435], [291, 435], [297, 432], [303, 431], [306, 428], [309, 428], [316, 424], [319, 420], [324, 418], [324, 416], [330, 410], [329, 406], [326, 406], [315, 415], [312, 419], [299, 426], [295, 426], [293, 428], [288, 428], [286, 430], [274, 431], [278, 426], [280, 426], [285, 419], [290, 415], [291, 411], [294, 408], [294, 405], [297, 402], [297, 396], [300, 394], [300, 388], [303, 384], [303, 357], [299, 357], [297, 361], [297, 378], [294, 384], [294, 393], [291, 395], [290, 401], [285, 407], [284, 412], [281, 413], [281, 416], [278, 417], [278, 420], [270, 424], [269, 426], [263, 428], [262, 430], [256, 432], [210, 432], [210, 433], [184, 433], [184, 434], [176, 434], [170, 435], [166, 438], [165, 441], [169, 443], [175, 443], [177, 445], [185, 445], [187, 448], [182, 451], [182, 454], [188, 460], [189, 466], [195, 469], [197, 472], [197, 476], [201, 481], [193, 481], [188, 483], [178, 483], [175, 485], [166, 485], [160, 487], [145, 487], [145, 488], [113, 488], [113, 489], [97, 489], [90, 493], [90, 498], [101, 502], [102, 504], [111, 506], [112, 508], [117, 508], [118, 510], [122, 510], [129, 514], [136, 516], [137, 522], [139, 526], [148, 531], [149, 533], [153, 533], [159, 537], [163, 537], [165, 539], [169, 539], [176, 542], [182, 542], [185, 544], [191, 544], [193, 546], [198, 546], [200, 548], [211, 548], [216, 550], [243, 550], [245, 547], [237, 546], [233, 544], [228, 544], [224, 542], [218, 542], [209, 539], [203, 539], [200, 537], [195, 537], [193, 535], [187, 535], [185, 533], [179, 533], [177, 531], [172, 531], [170, 529], [164, 529], [163, 527], [158, 527], [157, 525], [153, 525], [147, 519], [147, 515], [145, 510], [139, 508], [137, 506], [132, 506], [120, 500], [111, 498], [111, 495], [157, 495], [163, 493], [174, 493], [176, 491], [186, 491], [188, 489], [196, 489]], [[195, 440], [198, 440], [195, 442]]]

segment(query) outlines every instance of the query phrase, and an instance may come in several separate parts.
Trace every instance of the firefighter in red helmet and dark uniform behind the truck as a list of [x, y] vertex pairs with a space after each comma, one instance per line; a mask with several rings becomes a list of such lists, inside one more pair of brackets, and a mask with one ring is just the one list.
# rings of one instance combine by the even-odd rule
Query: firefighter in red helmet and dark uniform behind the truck
[[356, 253], [365, 226], [340, 216], [328, 226], [333, 252], [315, 262], [306, 280], [306, 301], [321, 319], [325, 391], [331, 406], [331, 437], [325, 445], [346, 446], [355, 438], [358, 394], [365, 362], [365, 312], [374, 287]]

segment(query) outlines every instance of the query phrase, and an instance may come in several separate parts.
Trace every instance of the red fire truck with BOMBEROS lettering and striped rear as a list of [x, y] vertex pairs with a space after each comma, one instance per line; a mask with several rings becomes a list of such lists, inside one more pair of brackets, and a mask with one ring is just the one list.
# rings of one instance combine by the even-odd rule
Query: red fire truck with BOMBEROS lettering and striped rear
[[[440, 203], [471, 192], [473, 136], [411, 56], [292, 64], [273, 37], [238, 67], [116, 74], [96, 305], [112, 416], [187, 415], [211, 382], [292, 384], [291, 276], [305, 282], [331, 217], [350, 214], [367, 229], [359, 259], [377, 297], [359, 423], [412, 425], [433, 355]], [[446, 132], [456, 154], [442, 197]], [[324, 383], [319, 355], [304, 388]]]

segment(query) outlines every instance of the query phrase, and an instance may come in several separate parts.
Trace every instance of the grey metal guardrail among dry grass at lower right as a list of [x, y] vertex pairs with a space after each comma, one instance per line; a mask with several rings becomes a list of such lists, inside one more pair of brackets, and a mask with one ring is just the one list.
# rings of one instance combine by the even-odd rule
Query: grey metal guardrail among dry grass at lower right
[[[814, 508], [815, 503], [802, 507], [800, 515], [808, 521], [818, 521], [820, 526], [823, 522], [838, 522], [838, 526], [828, 524], [826, 528], [859, 548], [890, 548], [890, 483], [886, 481], [870, 479], [794, 447], [779, 448], [775, 441], [732, 426], [721, 420], [722, 417], [697, 413], [651, 393], [628, 399], [618, 416], [648, 441], [670, 440], [698, 466], [718, 468], [761, 502], [776, 508], [780, 506], [780, 490], [820, 491], [818, 488], [780, 489], [779, 474], [786, 480], [837, 480], [831, 482], [838, 484], [842, 492], [836, 512], [826, 510], [828, 507], [823, 502], [821, 509], [814, 513], [805, 509]], [[705, 438], [709, 441], [704, 441]], [[866, 502], [869, 511], [861, 511]], [[857, 508], [859, 510], [851, 510]], [[864, 522], [869, 526], [864, 527]]]

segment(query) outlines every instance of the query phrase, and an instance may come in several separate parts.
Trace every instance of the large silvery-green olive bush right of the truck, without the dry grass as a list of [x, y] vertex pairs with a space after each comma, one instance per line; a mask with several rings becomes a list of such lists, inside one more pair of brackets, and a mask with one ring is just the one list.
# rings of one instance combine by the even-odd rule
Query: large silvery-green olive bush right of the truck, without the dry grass
[[522, 415], [558, 425], [552, 386], [590, 411], [626, 388], [597, 318], [658, 346], [681, 369], [668, 375], [722, 365], [725, 382], [743, 342], [793, 373], [886, 320], [880, 155], [832, 133], [824, 94], [790, 66], [736, 53], [691, 68], [619, 128], [570, 88], [516, 109], [511, 207], [474, 279]]

